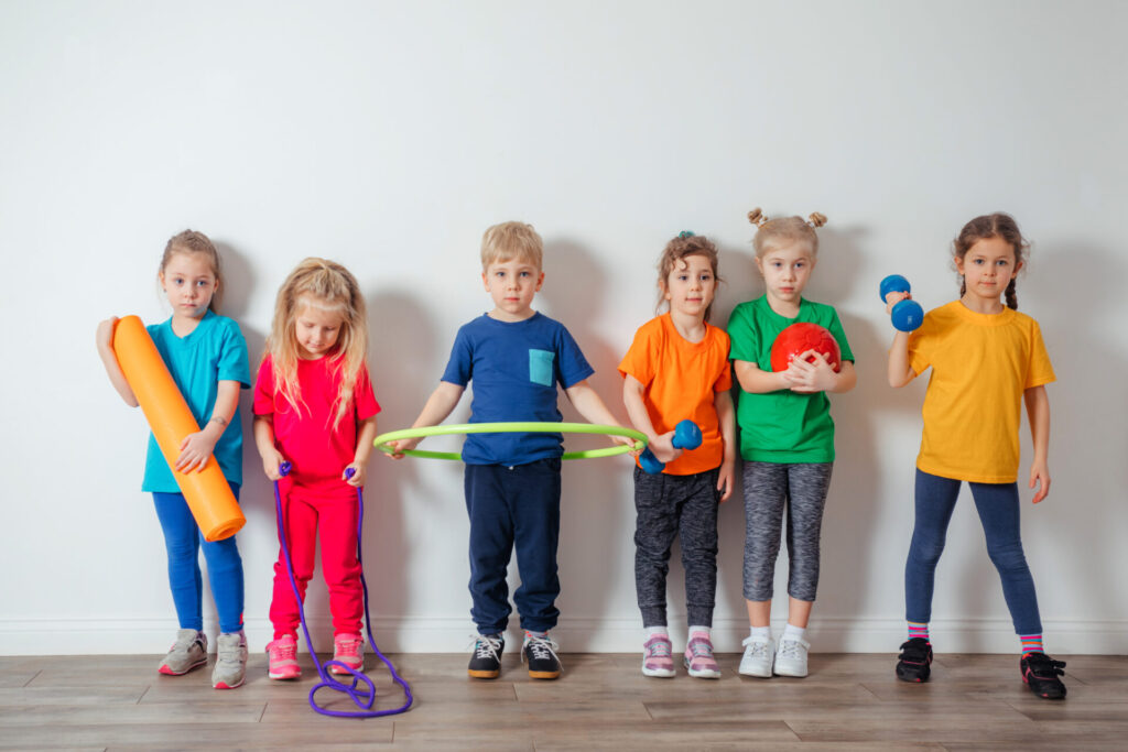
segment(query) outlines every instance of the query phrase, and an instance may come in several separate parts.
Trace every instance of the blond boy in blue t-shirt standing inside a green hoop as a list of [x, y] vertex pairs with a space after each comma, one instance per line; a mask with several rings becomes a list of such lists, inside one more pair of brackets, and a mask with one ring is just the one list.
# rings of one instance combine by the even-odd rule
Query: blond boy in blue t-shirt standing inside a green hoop
[[[442, 423], [474, 381], [470, 423], [562, 419], [556, 384], [591, 423], [619, 425], [588, 383], [594, 371], [558, 321], [532, 310], [545, 281], [544, 246], [532, 225], [503, 222], [482, 237], [482, 281], [494, 309], [458, 330], [438, 389], [412, 427]], [[632, 440], [615, 436], [623, 444]], [[399, 459], [420, 439], [391, 442]], [[466, 511], [470, 516], [470, 609], [478, 639], [469, 674], [501, 673], [509, 622], [505, 574], [513, 548], [521, 586], [513, 593], [525, 643], [522, 658], [534, 679], [561, 673], [557, 645], [548, 636], [559, 611], [556, 545], [559, 539], [561, 454], [558, 433], [470, 434], [462, 448]]]

